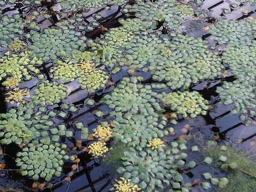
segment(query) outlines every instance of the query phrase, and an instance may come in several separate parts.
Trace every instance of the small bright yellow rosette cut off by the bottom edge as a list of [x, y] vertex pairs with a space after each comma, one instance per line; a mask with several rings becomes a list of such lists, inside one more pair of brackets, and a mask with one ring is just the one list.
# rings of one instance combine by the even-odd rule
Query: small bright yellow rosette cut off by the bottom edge
[[120, 178], [114, 185], [116, 192], [137, 192], [141, 189], [137, 185], [131, 185], [130, 179]]

